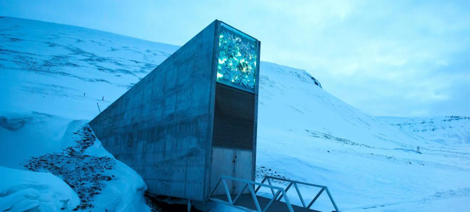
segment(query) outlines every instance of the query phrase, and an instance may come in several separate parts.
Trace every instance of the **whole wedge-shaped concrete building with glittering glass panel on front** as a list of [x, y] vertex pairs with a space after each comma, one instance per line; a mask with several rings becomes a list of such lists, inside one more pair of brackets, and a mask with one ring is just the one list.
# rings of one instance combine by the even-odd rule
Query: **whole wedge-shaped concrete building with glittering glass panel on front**
[[206, 201], [255, 179], [259, 50], [215, 20], [89, 124], [149, 193]]

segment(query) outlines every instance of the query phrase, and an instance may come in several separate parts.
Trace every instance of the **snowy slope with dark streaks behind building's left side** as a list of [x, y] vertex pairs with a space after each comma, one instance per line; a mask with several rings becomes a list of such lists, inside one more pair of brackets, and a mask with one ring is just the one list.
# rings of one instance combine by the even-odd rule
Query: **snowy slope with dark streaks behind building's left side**
[[0, 99], [0, 110], [28, 111], [36, 105], [44, 113], [91, 119], [98, 111], [96, 102], [109, 105], [177, 48], [80, 27], [2, 17], [0, 86], [7, 96]]

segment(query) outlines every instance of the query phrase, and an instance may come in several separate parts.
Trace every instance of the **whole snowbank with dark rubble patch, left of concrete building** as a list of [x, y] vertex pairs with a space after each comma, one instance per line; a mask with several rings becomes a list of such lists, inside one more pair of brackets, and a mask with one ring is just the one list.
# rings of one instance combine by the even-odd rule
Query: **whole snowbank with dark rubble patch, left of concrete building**
[[[0, 116], [0, 211], [150, 211], [143, 179], [102, 147], [86, 121]], [[18, 170], [25, 168], [35, 172]]]

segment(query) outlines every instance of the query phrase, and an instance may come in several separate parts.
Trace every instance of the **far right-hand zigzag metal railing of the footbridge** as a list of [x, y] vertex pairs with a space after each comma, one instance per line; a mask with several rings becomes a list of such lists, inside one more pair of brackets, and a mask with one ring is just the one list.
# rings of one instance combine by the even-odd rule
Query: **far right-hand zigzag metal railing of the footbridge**
[[[333, 197], [331, 196], [331, 193], [330, 193], [330, 190], [328, 189], [327, 186], [324, 186], [324, 185], [316, 185], [316, 184], [312, 184], [312, 183], [306, 183], [306, 182], [300, 182], [300, 181], [296, 181], [296, 180], [291, 180], [291, 179], [283, 179], [283, 178], [279, 178], [279, 177], [270, 177], [270, 176], [265, 176], [263, 178], [263, 180], [261, 181], [261, 184], [265, 185], [264, 183], [267, 182], [268, 185], [272, 185], [272, 180], [279, 180], [279, 181], [285, 181], [285, 182], [288, 182], [289, 185], [287, 185], [287, 187], [284, 189], [284, 193], [282, 193], [277, 201], [281, 201], [281, 199], [286, 195], [285, 193], [294, 185], [294, 188], [296, 189], [297, 191], [297, 195], [299, 196], [299, 199], [300, 199], [300, 202], [302, 203], [302, 207], [303, 208], [306, 208], [306, 209], [310, 209], [310, 207], [312, 207], [313, 203], [315, 203], [315, 201], [318, 199], [318, 197], [320, 197], [320, 195], [323, 193], [323, 191], [326, 191], [326, 193], [328, 194], [328, 197], [330, 198], [330, 201], [333, 205], [333, 207], [335, 207], [335, 210], [337, 212], [339, 212], [340, 210], [338, 209], [338, 206], [336, 205], [335, 203], [335, 200], [333, 200]], [[315, 195], [315, 197], [313, 197], [313, 200], [308, 204], [306, 205], [305, 204], [305, 199], [302, 197], [302, 194], [300, 193], [300, 190], [299, 190], [299, 184], [300, 185], [307, 185], [307, 186], [311, 186], [311, 187], [318, 187], [318, 188], [321, 188], [320, 191], [317, 193], [317, 195]], [[260, 185], [258, 185], [258, 187], [255, 189], [255, 192], [257, 192], [259, 189], [261, 188]], [[271, 192], [273, 193], [274, 195], [274, 190], [271, 189]], [[284, 198], [284, 199], [287, 199], [287, 198]]]

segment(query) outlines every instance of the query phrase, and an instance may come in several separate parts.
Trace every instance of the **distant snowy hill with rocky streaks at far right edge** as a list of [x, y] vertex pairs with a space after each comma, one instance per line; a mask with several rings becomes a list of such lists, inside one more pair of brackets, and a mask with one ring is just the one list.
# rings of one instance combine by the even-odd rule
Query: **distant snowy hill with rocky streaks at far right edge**
[[453, 145], [470, 144], [470, 117], [467, 116], [377, 118], [400, 130], [421, 136], [429, 141]]

